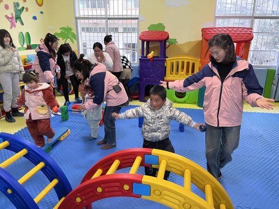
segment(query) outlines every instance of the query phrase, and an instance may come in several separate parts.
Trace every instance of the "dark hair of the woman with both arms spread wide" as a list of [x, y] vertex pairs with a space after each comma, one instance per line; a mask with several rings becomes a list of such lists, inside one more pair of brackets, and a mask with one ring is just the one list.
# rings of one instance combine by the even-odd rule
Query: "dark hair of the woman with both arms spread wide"
[[[223, 60], [224, 64], [235, 62], [236, 54], [234, 49], [234, 43], [229, 34], [225, 34], [225, 33], [216, 34], [208, 41], [208, 49], [213, 46], [220, 47], [221, 49], [224, 49], [226, 51], [226, 56]], [[210, 54], [210, 61], [213, 63], [217, 63], [217, 61], [214, 59], [214, 57], [211, 54]]]

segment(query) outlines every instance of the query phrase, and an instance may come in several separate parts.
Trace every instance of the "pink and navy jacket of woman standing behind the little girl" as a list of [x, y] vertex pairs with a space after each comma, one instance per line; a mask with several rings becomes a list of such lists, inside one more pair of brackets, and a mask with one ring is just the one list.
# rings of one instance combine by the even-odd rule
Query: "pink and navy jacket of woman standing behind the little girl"
[[60, 71], [58, 65], [56, 65], [56, 60], [50, 56], [49, 50], [45, 43], [42, 42], [35, 50], [37, 56], [33, 64], [33, 69], [40, 76], [40, 82], [49, 83], [54, 80], [54, 74], [57, 70]]

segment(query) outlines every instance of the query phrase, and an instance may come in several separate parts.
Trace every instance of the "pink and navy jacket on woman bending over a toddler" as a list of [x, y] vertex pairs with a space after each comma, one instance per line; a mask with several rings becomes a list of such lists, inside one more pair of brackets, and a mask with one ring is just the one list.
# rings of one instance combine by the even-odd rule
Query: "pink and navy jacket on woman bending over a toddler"
[[[107, 106], [115, 107], [122, 105], [128, 100], [122, 83], [118, 81], [116, 76], [107, 71], [106, 66], [102, 63], [99, 63], [92, 69], [89, 77], [89, 85], [94, 92], [94, 97], [85, 103], [86, 109], [92, 110], [103, 101], [107, 102]], [[121, 87], [120, 92], [116, 93], [113, 89], [115, 85]]]

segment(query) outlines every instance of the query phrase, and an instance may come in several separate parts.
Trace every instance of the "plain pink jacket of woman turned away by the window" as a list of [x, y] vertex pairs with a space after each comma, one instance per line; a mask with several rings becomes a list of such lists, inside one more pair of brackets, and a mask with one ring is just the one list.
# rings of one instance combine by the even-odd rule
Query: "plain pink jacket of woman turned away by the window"
[[114, 42], [109, 42], [106, 46], [105, 52], [109, 53], [113, 60], [113, 72], [121, 72], [123, 71], [122, 63], [121, 63], [121, 55], [120, 51], [117, 48], [117, 46], [114, 44]]

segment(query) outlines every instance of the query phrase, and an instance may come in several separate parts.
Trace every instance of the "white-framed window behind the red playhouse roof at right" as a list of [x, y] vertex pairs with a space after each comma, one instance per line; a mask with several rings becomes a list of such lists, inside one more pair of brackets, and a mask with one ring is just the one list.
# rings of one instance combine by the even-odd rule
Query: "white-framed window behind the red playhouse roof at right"
[[279, 51], [279, 0], [217, 0], [216, 27], [252, 27], [253, 65], [276, 66]]

